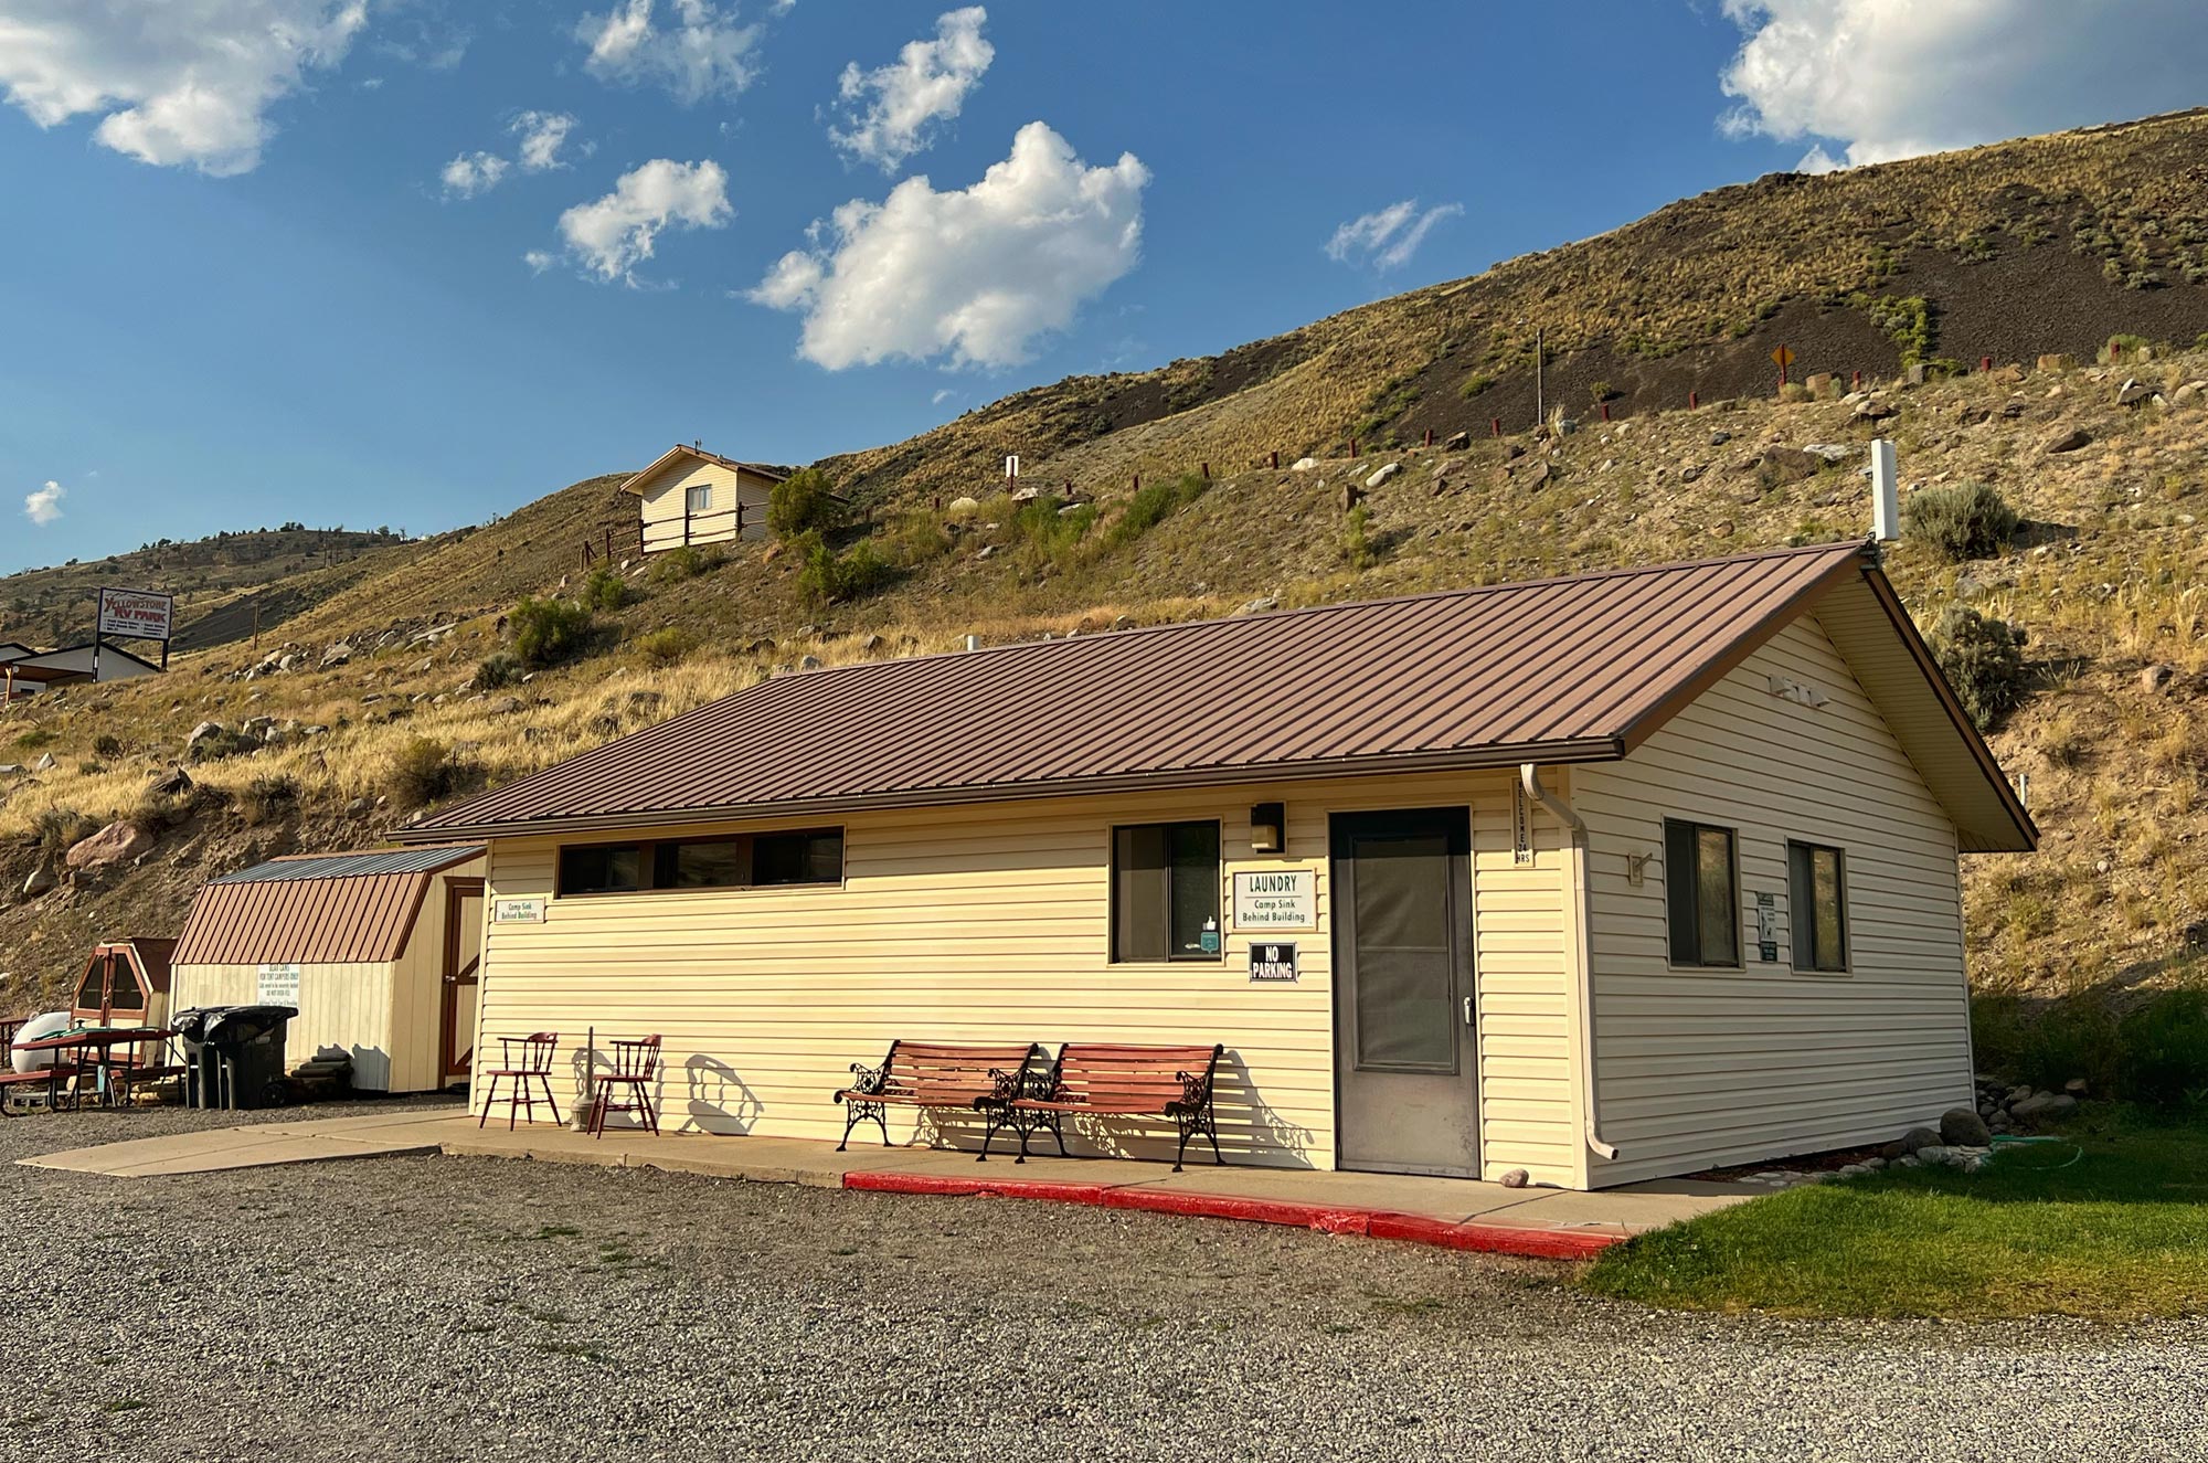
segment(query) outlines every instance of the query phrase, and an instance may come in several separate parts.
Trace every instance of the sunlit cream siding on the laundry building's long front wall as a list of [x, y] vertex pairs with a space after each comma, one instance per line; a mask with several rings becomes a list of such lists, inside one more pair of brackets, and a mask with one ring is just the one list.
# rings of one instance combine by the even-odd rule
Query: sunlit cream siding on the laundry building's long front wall
[[[1287, 851], [1250, 853], [1250, 804], [1287, 804]], [[1508, 782], [1499, 776], [1387, 778], [1051, 798], [843, 820], [846, 882], [817, 888], [552, 895], [554, 840], [497, 840], [492, 897], [545, 895], [543, 924], [488, 930], [484, 1041], [561, 1032], [556, 1092], [574, 1101], [585, 1028], [665, 1036], [669, 1129], [839, 1138], [828, 1098], [850, 1063], [877, 1063], [896, 1036], [945, 1041], [1225, 1043], [1221, 1143], [1230, 1160], [1334, 1165], [1334, 1010], [1327, 818], [1331, 811], [1471, 804], [1475, 941], [1497, 966], [1484, 1081], [1495, 1134], [1484, 1162], [1563, 1178], [1570, 1154], [1565, 979], [1557, 860], [1512, 871]], [[1217, 818], [1225, 955], [1111, 964], [1111, 829]], [[817, 818], [760, 822], [810, 827]], [[583, 842], [583, 840], [578, 840]], [[1318, 871], [1318, 930], [1234, 930], [1232, 873]], [[1548, 884], [1543, 906], [1541, 884]], [[1493, 930], [1488, 924], [1493, 922]], [[1252, 939], [1294, 939], [1301, 979], [1252, 986]], [[1486, 1017], [1484, 1017], [1486, 1019]], [[488, 1045], [484, 1056], [495, 1056]], [[477, 1094], [481, 1098], [481, 1092]], [[919, 1125], [892, 1112], [903, 1143]], [[945, 1118], [956, 1132], [976, 1132]], [[1164, 1132], [1164, 1140], [1159, 1134]], [[879, 1143], [872, 1129], [854, 1145]], [[1170, 1127], [1084, 1125], [1078, 1151], [1170, 1156]]]

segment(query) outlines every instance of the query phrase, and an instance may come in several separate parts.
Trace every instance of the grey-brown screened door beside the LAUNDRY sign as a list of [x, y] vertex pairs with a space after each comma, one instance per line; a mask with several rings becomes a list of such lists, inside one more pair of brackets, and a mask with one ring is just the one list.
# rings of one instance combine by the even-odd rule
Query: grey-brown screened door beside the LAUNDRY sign
[[1471, 811], [1334, 818], [1340, 1165], [1479, 1173]]

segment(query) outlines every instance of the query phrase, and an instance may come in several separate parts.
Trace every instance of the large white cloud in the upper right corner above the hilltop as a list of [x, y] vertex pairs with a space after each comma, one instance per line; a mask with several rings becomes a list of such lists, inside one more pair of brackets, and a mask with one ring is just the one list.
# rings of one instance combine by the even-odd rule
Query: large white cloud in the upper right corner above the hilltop
[[[2199, 0], [1724, 0], [1724, 128], [1877, 164], [2199, 104]], [[1835, 161], [1817, 144], [1804, 170]]]

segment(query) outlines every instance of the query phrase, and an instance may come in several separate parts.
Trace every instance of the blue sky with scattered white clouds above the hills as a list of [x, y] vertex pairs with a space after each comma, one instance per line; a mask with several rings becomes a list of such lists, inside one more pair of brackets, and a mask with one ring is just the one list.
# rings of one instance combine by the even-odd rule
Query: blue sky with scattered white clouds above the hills
[[0, 0], [0, 572], [806, 462], [2208, 91], [2193, 0], [1934, 9]]

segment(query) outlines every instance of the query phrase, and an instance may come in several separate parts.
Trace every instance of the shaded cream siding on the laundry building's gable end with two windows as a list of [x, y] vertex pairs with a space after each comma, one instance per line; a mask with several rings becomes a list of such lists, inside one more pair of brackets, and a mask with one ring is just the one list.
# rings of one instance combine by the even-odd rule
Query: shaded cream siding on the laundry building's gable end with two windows
[[[1773, 694], [1773, 676], [1824, 694]], [[1579, 769], [1590, 829], [1594, 1185], [1899, 1136], [1970, 1103], [1954, 824], [1815, 619], [1802, 619], [1625, 762]], [[1663, 820], [1738, 831], [1740, 970], [1676, 970]], [[1795, 972], [1786, 842], [1846, 851], [1850, 972]], [[1627, 855], [1647, 855], [1627, 877]], [[1762, 961], [1755, 895], [1773, 893]]]

